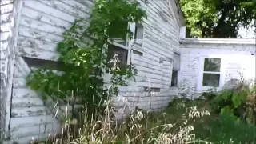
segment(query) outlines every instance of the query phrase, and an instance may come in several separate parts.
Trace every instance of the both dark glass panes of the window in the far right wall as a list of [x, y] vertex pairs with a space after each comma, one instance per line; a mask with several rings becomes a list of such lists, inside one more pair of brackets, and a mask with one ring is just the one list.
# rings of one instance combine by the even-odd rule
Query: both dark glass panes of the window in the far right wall
[[220, 85], [220, 58], [205, 58], [202, 74], [202, 86], [219, 87]]

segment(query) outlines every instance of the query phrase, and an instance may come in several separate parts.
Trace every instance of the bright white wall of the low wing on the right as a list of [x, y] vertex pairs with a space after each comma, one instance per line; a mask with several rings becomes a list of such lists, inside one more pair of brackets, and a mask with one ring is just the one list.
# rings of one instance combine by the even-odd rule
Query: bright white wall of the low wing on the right
[[198, 96], [210, 86], [203, 86], [205, 58], [220, 58], [220, 81], [217, 90], [234, 84], [231, 79], [255, 78], [255, 40], [243, 39], [183, 39], [181, 40], [181, 70], [179, 83], [182, 93], [189, 98]]

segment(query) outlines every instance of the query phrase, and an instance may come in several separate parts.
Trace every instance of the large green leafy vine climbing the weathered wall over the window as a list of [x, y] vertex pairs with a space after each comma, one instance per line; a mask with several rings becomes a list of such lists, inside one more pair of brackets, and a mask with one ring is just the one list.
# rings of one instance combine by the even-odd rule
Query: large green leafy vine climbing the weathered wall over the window
[[[139, 8], [138, 2], [124, 0], [97, 0], [90, 15], [90, 25], [83, 19], [76, 20], [63, 33], [64, 40], [58, 43], [58, 59], [63, 62], [63, 73], [53, 70], [33, 70], [27, 77], [27, 86], [32, 90], [42, 91], [43, 98], [65, 101], [68, 98], [86, 106], [88, 115], [102, 110], [103, 102], [110, 96], [118, 95], [118, 86], [125, 86], [126, 79], [134, 77], [136, 68], [128, 64], [119, 69], [116, 64], [109, 70], [113, 75], [112, 86], [107, 89], [102, 75], [107, 65], [107, 46], [113, 38], [130, 40], [133, 32], [123, 23], [142, 22], [146, 12]], [[110, 63], [118, 62], [114, 55]]]

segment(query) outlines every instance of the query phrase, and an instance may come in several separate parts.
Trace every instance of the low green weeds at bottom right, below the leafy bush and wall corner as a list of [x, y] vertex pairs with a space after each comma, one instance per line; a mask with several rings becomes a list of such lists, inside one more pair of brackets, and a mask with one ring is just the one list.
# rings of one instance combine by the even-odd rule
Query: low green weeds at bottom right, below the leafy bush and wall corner
[[[223, 92], [224, 93], [224, 92]], [[227, 99], [230, 97], [229, 94], [232, 94], [231, 91], [225, 91], [223, 94], [223, 99]], [[206, 97], [202, 97], [201, 99], [190, 100], [190, 102], [184, 103], [184, 98], [177, 98], [171, 102], [170, 107], [165, 110], [166, 117], [162, 118], [162, 116], [155, 116], [156, 120], [154, 123], [157, 126], [162, 123], [175, 123], [182, 122], [182, 114], [187, 107], [197, 106], [198, 110], [208, 110], [211, 111], [210, 116], [205, 116], [202, 118], [197, 118], [195, 121], [189, 121], [188, 125], [194, 126], [193, 134], [195, 137], [201, 140], [206, 140], [207, 142], [219, 143], [219, 144], [240, 144], [240, 143], [255, 143], [256, 141], [256, 127], [246, 124], [246, 122], [242, 122], [238, 117], [234, 115], [234, 109], [230, 109], [230, 106], [222, 106], [222, 109], [219, 108], [219, 113], [214, 113], [213, 108], [210, 105], [213, 105], [212, 101], [215, 98], [219, 98], [218, 94], [204, 93], [204, 96], [211, 99], [206, 99]], [[176, 106], [181, 105], [177, 109]], [[185, 105], [184, 105], [185, 104]], [[218, 106], [217, 106], [218, 107]], [[220, 112], [221, 111], [221, 112]], [[200, 142], [198, 142], [200, 143]]]

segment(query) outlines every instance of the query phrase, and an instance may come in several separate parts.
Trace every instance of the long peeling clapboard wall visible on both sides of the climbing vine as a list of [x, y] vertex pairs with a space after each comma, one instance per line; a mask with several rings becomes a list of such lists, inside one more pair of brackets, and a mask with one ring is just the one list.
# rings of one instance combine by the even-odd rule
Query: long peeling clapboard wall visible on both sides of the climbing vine
[[[48, 134], [58, 131], [60, 126], [52, 110], [46, 106], [40, 96], [26, 87], [26, 75], [30, 66], [24, 58], [36, 58], [56, 61], [56, 46], [62, 41], [62, 32], [69, 28], [76, 18], [89, 18], [92, 1], [18, 1], [21, 10], [18, 14], [16, 33], [17, 48], [14, 61], [14, 78], [10, 97], [10, 106], [6, 118], [10, 132], [9, 142], [29, 142], [44, 139]], [[131, 61], [138, 69], [136, 82], [120, 88], [120, 95], [126, 98], [130, 109], [135, 106], [147, 110], [158, 110], [168, 105], [176, 88], [170, 87], [174, 51], [179, 52], [179, 25], [174, 12], [167, 1], [141, 2], [148, 15], [143, 23], [143, 42], [134, 43], [130, 54]], [[138, 53], [139, 51], [139, 53]], [[7, 65], [5, 65], [7, 66]], [[8, 73], [9, 74], [9, 73]], [[106, 81], [107, 82], [107, 81]], [[108, 82], [107, 82], [108, 83]], [[108, 83], [109, 84], [109, 83]], [[154, 94], [145, 91], [145, 87], [157, 89]], [[5, 89], [4, 89], [5, 90]], [[114, 106], [120, 107], [118, 98]], [[122, 114], [119, 114], [122, 117]]]

